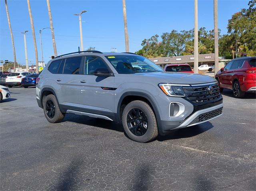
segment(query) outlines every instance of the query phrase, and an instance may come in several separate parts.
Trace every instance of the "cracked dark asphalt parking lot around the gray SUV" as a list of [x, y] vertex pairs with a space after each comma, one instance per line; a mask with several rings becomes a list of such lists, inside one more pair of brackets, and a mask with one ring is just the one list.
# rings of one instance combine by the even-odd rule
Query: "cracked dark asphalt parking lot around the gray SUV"
[[256, 190], [256, 99], [224, 90], [215, 120], [141, 144], [114, 122], [50, 124], [35, 88], [0, 103], [0, 190]]

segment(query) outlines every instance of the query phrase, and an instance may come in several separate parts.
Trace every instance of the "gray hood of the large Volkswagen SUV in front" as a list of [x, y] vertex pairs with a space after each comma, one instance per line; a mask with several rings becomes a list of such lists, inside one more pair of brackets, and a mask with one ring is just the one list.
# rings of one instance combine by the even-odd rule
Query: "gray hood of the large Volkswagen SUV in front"
[[174, 84], [200, 84], [215, 82], [216, 79], [207, 75], [200, 75], [194, 73], [179, 73], [179, 72], [149, 72], [149, 73], [136, 73], [135, 75], [155, 77], [161, 83], [174, 83]]

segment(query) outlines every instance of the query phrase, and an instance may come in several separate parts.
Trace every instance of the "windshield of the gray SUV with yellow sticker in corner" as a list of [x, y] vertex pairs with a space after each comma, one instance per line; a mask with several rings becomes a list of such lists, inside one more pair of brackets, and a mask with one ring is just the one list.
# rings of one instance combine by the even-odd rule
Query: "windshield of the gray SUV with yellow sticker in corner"
[[162, 72], [163, 70], [150, 60], [139, 55], [106, 56], [119, 74]]

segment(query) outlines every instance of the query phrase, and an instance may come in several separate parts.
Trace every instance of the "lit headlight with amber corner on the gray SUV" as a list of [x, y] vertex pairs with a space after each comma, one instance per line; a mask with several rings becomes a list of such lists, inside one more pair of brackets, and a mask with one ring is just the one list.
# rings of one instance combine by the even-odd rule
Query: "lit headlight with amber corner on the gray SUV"
[[161, 90], [168, 96], [184, 97], [185, 93], [183, 86], [190, 86], [188, 84], [159, 84]]

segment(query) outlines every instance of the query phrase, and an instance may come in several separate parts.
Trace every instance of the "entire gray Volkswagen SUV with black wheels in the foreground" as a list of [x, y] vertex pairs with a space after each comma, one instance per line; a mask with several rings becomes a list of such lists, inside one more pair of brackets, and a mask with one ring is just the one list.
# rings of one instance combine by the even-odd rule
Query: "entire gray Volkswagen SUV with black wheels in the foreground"
[[51, 123], [66, 113], [122, 122], [138, 142], [212, 120], [223, 107], [212, 77], [165, 72], [134, 53], [100, 51], [50, 60], [36, 81], [36, 99]]

